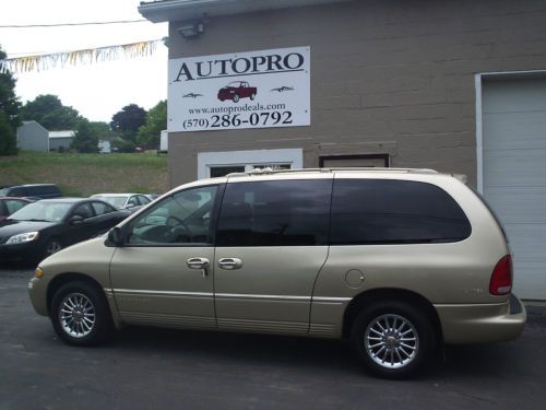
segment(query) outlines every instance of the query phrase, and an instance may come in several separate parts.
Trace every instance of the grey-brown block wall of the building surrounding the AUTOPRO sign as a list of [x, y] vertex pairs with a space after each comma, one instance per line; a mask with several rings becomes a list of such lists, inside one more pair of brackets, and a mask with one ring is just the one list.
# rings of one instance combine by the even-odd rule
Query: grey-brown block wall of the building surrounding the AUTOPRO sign
[[311, 47], [311, 126], [169, 136], [170, 185], [197, 178], [197, 154], [304, 149], [388, 153], [391, 166], [462, 173], [476, 183], [475, 74], [546, 69], [543, 0], [353, 1], [211, 17], [169, 58]]

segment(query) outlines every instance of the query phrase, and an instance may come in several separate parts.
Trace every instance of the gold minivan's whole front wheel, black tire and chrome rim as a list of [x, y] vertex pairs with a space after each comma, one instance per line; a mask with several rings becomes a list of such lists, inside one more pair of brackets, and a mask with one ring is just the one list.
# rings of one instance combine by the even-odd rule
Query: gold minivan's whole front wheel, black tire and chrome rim
[[72, 345], [98, 344], [114, 329], [106, 296], [97, 286], [81, 280], [59, 288], [49, 317], [57, 335]]

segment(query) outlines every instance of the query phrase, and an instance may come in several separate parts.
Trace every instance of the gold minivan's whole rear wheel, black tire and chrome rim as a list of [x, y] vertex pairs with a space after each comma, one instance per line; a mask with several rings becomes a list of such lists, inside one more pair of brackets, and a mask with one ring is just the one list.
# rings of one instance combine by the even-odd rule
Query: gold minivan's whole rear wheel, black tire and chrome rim
[[384, 378], [406, 378], [436, 352], [432, 323], [405, 302], [376, 303], [356, 317], [351, 342], [364, 365]]

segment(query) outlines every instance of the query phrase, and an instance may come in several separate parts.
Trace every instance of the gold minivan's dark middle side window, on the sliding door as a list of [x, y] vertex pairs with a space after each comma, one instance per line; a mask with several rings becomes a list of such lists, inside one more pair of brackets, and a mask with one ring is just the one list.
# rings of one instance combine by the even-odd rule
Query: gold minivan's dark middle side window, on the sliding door
[[331, 179], [227, 184], [216, 246], [328, 244]]

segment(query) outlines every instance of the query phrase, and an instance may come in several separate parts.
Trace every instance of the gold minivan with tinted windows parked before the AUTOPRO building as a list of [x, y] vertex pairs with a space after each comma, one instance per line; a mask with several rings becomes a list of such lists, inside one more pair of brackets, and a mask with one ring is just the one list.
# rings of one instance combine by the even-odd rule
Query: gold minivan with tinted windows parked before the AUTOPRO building
[[28, 286], [70, 344], [126, 324], [348, 339], [392, 378], [442, 343], [514, 339], [526, 318], [495, 215], [428, 169], [265, 169], [182, 185], [45, 259]]

